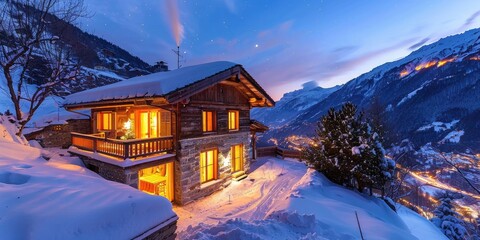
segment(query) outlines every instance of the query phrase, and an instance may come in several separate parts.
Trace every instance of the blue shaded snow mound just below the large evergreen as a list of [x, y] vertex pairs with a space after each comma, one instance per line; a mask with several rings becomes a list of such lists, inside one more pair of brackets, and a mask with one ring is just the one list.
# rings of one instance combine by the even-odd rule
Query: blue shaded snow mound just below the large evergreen
[[[279, 209], [314, 214], [317, 228], [359, 239], [358, 214], [366, 239], [415, 239], [408, 227], [382, 200], [347, 190], [309, 169]], [[433, 227], [433, 225], [432, 225]]]

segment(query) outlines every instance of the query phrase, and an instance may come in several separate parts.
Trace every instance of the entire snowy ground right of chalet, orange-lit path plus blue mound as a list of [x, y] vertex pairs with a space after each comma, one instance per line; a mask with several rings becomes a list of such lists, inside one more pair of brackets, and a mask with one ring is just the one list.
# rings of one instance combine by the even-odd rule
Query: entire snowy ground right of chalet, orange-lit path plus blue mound
[[185, 207], [179, 239], [446, 239], [428, 220], [329, 182], [296, 160], [261, 158], [249, 177]]

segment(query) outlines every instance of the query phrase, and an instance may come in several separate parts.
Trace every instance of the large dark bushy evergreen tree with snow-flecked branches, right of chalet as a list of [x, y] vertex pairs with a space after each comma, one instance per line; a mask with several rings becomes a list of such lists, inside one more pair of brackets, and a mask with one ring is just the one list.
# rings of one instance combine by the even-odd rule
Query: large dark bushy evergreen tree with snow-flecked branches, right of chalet
[[330, 109], [317, 125], [304, 159], [328, 179], [347, 187], [383, 187], [394, 163], [384, 158], [379, 135], [352, 103]]

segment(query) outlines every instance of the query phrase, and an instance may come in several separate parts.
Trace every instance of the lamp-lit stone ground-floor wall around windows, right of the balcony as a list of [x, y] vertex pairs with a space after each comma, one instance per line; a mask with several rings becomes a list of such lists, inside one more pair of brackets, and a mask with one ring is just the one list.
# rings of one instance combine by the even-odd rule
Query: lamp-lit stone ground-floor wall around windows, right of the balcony
[[[175, 162], [175, 202], [181, 205], [187, 204], [230, 184], [230, 148], [233, 145], [243, 144], [244, 170], [248, 172], [252, 156], [249, 134], [249, 132], [237, 132], [180, 140]], [[218, 149], [218, 177], [216, 180], [202, 184], [200, 183], [200, 152], [212, 148]]]

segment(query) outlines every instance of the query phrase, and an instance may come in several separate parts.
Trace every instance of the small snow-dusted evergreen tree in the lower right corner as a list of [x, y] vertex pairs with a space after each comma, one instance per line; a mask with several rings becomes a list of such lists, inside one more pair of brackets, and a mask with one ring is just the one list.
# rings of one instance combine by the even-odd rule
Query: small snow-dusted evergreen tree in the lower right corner
[[459, 219], [459, 214], [454, 211], [453, 200], [456, 198], [452, 192], [444, 192], [437, 196], [440, 205], [433, 211], [435, 217], [431, 219], [433, 224], [442, 230], [449, 239], [465, 239], [467, 230], [465, 223]]

